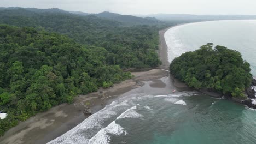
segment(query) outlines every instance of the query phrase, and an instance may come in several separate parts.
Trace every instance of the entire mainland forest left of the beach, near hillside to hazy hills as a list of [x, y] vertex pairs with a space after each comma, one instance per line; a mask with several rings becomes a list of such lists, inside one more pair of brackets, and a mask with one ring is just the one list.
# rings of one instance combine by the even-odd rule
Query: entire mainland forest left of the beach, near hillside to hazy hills
[[0, 10], [0, 110], [8, 113], [0, 135], [78, 94], [131, 78], [124, 69], [161, 64], [156, 50], [165, 23], [139, 18], [143, 23], [127, 25], [59, 9]]

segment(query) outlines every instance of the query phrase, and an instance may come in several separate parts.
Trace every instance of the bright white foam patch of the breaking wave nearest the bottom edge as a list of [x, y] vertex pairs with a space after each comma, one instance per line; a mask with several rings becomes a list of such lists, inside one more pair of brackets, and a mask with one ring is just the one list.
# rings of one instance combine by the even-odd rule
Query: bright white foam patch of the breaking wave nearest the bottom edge
[[110, 123], [106, 128], [101, 129], [98, 131], [98, 133], [92, 137], [89, 140], [89, 143], [91, 144], [107, 144], [110, 142], [110, 136], [108, 134], [113, 134], [113, 135], [127, 135], [127, 132], [124, 130], [123, 127], [121, 127], [119, 124], [117, 124], [115, 121]]

